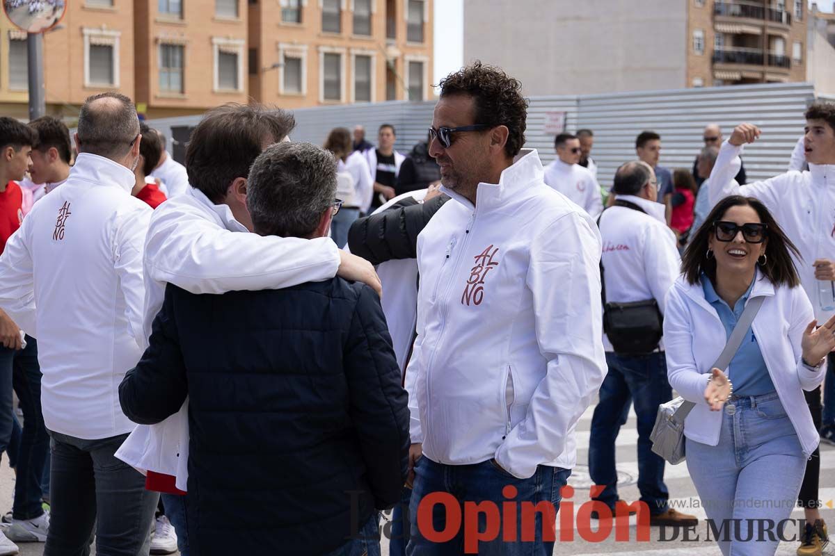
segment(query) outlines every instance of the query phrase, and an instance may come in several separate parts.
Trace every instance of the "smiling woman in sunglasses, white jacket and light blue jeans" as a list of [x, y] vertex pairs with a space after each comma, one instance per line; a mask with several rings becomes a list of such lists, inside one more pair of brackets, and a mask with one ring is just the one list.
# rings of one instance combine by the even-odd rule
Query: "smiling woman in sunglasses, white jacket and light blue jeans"
[[[696, 403], [685, 421], [687, 468], [707, 517], [729, 531], [716, 535], [725, 555], [774, 553], [777, 540], [758, 534], [757, 520], [789, 517], [819, 440], [802, 390], [822, 382], [835, 318], [815, 328], [792, 253], [762, 203], [731, 196], [696, 231], [667, 293], [667, 376]], [[746, 303], [759, 297], [731, 363], [712, 368]]]

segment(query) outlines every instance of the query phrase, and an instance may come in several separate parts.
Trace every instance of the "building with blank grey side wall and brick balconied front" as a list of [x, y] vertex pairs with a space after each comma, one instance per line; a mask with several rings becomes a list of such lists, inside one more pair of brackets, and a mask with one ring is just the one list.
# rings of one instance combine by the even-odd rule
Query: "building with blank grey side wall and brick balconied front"
[[532, 95], [802, 82], [806, 17], [806, 0], [464, 0], [464, 60]]

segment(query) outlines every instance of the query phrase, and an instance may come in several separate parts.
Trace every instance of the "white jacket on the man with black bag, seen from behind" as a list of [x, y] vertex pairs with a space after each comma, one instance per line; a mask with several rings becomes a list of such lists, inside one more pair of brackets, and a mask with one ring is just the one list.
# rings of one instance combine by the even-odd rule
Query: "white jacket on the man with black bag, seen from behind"
[[[667, 290], [681, 273], [676, 234], [667, 228], [665, 206], [634, 195], [618, 195], [618, 200], [635, 203], [646, 213], [615, 205], [600, 215], [606, 301], [655, 299], [664, 314]], [[605, 334], [604, 346], [613, 350]]]

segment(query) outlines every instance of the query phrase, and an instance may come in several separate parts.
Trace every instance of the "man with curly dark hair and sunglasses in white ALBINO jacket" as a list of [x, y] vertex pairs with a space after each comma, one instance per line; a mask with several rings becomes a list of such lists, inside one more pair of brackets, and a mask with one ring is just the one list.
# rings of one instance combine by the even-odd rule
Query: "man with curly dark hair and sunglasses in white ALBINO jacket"
[[[462, 547], [552, 553], [560, 488], [576, 460], [574, 427], [605, 375], [600, 235], [545, 185], [536, 151], [522, 150], [519, 90], [474, 63], [441, 82], [434, 111], [429, 154], [452, 200], [417, 243], [417, 340], [407, 368], [415, 381], [411, 556]], [[499, 523], [479, 539], [454, 529], [436, 505], [435, 530], [456, 533], [439, 544], [418, 526], [429, 493], [446, 493], [448, 512], [466, 511], [467, 501], [498, 511], [508, 497], [554, 511], [535, 524]], [[523, 541], [529, 534], [535, 540]]]

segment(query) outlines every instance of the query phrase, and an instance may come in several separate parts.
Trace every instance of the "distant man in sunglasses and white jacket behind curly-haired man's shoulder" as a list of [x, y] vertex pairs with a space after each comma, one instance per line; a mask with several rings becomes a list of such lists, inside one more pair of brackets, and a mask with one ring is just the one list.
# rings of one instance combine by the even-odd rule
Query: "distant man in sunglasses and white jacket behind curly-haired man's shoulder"
[[579, 138], [559, 133], [554, 138], [554, 149], [557, 158], [545, 167], [545, 183], [582, 207], [591, 218], [597, 218], [603, 212], [600, 185], [588, 168], [579, 165]]

